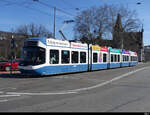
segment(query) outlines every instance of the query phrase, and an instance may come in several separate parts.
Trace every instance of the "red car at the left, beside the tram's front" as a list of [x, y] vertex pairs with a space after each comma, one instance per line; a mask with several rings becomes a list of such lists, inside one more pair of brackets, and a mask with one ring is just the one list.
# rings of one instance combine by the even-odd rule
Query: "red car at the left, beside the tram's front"
[[[12, 60], [12, 70], [17, 70], [19, 65], [20, 59]], [[11, 60], [8, 62], [1, 62], [0, 63], [0, 70], [1, 71], [10, 71], [11, 69]]]

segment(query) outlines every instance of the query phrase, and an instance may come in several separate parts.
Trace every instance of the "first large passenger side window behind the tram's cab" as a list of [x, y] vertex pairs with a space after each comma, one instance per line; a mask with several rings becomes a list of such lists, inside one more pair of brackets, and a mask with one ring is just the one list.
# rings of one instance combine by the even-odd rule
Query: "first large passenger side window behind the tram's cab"
[[59, 63], [59, 51], [50, 50], [50, 64], [58, 64], [58, 63]]

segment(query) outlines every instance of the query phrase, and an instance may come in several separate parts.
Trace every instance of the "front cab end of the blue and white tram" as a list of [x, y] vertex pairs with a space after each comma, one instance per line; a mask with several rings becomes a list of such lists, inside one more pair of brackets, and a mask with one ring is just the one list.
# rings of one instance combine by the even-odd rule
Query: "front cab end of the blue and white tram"
[[42, 38], [25, 40], [22, 49], [22, 61], [18, 68], [23, 74], [40, 74], [46, 66], [46, 41]]

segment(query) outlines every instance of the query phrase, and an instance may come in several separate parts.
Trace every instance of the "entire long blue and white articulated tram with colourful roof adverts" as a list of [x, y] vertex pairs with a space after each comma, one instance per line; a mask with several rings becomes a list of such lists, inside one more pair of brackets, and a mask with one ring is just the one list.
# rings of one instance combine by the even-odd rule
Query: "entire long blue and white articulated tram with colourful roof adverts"
[[21, 59], [18, 68], [26, 75], [86, 72], [138, 63], [136, 52], [43, 37], [26, 39]]

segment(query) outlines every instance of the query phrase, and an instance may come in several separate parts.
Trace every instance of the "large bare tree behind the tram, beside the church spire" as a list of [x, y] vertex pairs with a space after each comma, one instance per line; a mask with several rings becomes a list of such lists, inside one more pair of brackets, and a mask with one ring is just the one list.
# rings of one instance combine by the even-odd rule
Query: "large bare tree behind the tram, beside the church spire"
[[118, 13], [121, 14], [124, 31], [139, 30], [140, 21], [136, 11], [130, 10], [127, 6], [104, 5], [91, 7], [76, 16], [74, 26], [76, 39], [88, 43], [97, 43], [100, 39], [112, 39]]

